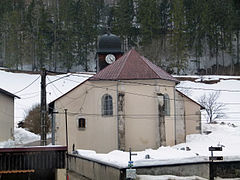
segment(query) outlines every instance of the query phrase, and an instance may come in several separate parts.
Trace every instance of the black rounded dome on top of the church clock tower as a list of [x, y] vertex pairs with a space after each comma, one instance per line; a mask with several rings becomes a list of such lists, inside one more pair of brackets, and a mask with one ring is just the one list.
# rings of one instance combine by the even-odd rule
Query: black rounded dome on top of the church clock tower
[[99, 38], [97, 53], [122, 53], [121, 40], [114, 34], [104, 34]]

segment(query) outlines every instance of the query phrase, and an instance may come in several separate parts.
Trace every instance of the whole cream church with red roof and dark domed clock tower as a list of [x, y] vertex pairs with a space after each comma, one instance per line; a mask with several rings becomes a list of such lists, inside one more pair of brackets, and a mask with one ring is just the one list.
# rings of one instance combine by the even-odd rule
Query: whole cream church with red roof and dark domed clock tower
[[[175, 89], [178, 80], [141, 56], [123, 54], [113, 34], [100, 37], [97, 73], [49, 104], [56, 144], [106, 153], [175, 145], [201, 132], [201, 106]], [[191, 115], [191, 116], [190, 116]]]

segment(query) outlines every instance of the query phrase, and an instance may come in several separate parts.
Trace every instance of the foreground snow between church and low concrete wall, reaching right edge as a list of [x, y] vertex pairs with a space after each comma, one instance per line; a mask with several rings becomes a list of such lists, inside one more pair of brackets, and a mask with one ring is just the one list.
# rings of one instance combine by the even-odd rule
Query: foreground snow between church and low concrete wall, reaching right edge
[[[192, 134], [187, 136], [186, 143], [172, 147], [160, 147], [157, 150], [133, 152], [133, 166], [153, 166], [188, 162], [206, 162], [211, 153], [210, 146], [221, 146], [223, 151], [214, 152], [216, 156], [223, 156], [225, 161], [240, 160], [240, 126], [232, 124], [204, 124], [204, 130], [210, 134]], [[91, 150], [77, 150], [79, 156], [106, 163], [119, 168], [128, 167], [129, 152], [112, 151], [106, 154], [96, 153]], [[146, 155], [150, 159], [146, 159]]]

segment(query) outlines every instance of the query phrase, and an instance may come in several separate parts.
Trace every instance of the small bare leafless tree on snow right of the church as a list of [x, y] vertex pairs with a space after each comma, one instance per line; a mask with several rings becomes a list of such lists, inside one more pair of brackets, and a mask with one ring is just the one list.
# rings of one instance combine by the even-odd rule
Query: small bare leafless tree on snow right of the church
[[205, 108], [209, 123], [213, 123], [215, 119], [220, 119], [225, 116], [223, 113], [223, 110], [225, 109], [225, 105], [223, 103], [217, 102], [217, 99], [219, 98], [220, 92], [212, 92], [209, 94], [204, 94], [200, 97], [199, 103]]

